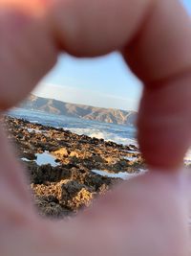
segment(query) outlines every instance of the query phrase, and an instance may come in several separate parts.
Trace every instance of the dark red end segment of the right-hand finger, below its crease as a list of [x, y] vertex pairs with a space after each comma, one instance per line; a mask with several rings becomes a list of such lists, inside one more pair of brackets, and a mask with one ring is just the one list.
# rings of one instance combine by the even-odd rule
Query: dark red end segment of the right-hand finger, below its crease
[[191, 75], [145, 87], [138, 141], [150, 167], [176, 169], [191, 144]]

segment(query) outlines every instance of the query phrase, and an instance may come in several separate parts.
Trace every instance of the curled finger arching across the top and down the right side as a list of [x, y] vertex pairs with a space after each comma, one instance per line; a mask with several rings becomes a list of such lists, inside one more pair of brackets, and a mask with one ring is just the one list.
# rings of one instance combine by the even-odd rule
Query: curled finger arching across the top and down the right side
[[191, 142], [191, 22], [180, 2], [58, 1], [53, 10], [56, 39], [69, 53], [124, 49], [145, 83], [138, 118], [143, 156], [151, 167], [179, 167]]

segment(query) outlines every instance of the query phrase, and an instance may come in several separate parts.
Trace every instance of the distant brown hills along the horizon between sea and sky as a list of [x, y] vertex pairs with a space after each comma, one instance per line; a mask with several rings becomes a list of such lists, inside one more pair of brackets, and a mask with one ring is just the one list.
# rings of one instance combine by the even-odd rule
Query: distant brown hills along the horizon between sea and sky
[[30, 95], [21, 105], [21, 108], [40, 110], [56, 115], [77, 117], [81, 119], [95, 120], [103, 123], [135, 126], [138, 113], [113, 108], [101, 108], [90, 105], [68, 104], [53, 99], [46, 99]]

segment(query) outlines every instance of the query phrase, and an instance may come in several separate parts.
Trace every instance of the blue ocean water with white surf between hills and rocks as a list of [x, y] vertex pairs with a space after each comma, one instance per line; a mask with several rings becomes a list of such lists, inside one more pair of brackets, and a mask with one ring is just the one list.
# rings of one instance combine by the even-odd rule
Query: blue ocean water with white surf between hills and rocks
[[53, 115], [42, 111], [20, 108], [11, 110], [8, 115], [44, 126], [68, 129], [78, 135], [84, 134], [106, 141], [113, 141], [117, 144], [138, 145], [136, 140], [137, 130], [134, 127], [100, 123], [97, 121]]

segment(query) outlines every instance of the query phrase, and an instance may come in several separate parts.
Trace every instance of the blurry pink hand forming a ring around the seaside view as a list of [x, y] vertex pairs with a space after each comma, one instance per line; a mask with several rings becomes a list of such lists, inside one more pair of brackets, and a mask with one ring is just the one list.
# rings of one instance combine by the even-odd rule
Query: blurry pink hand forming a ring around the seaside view
[[[68, 52], [118, 50], [144, 82], [140, 149], [152, 170], [124, 182], [73, 221], [41, 220], [0, 130], [3, 256], [188, 256], [191, 26], [177, 0], [0, 0], [0, 108], [23, 100]], [[13, 86], [13, 89], [12, 89]]]

